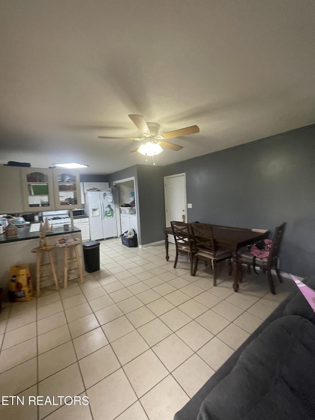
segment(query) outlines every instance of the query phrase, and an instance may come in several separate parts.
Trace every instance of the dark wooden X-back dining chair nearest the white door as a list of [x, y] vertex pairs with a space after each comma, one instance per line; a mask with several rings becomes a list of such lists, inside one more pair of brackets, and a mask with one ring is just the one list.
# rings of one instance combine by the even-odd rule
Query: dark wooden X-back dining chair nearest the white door
[[194, 246], [193, 246], [193, 241], [192, 241], [192, 237], [190, 233], [189, 224], [184, 223], [184, 222], [172, 221], [171, 226], [173, 230], [175, 247], [176, 247], [174, 268], [176, 268], [179, 254], [186, 254], [189, 256], [190, 274], [192, 275]]

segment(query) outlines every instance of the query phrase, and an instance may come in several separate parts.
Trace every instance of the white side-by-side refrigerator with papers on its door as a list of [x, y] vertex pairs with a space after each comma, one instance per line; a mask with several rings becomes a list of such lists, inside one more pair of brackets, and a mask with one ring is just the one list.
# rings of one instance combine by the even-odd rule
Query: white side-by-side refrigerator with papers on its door
[[85, 211], [89, 216], [91, 240], [117, 236], [116, 208], [110, 190], [87, 191]]

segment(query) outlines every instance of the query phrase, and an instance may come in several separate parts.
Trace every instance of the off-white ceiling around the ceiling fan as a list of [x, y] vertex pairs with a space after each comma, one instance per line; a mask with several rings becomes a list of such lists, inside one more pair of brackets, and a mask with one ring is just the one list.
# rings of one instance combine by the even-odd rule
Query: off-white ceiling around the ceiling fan
[[15, 0], [0, 14], [0, 163], [145, 163], [127, 114], [170, 140], [158, 165], [315, 123], [314, 0]]

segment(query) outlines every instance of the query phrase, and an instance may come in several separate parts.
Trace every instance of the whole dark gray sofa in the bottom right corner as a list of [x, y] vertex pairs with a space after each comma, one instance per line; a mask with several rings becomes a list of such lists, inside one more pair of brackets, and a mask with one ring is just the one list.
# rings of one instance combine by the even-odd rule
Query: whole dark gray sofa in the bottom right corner
[[315, 313], [297, 288], [174, 417], [238, 419], [315, 419]]

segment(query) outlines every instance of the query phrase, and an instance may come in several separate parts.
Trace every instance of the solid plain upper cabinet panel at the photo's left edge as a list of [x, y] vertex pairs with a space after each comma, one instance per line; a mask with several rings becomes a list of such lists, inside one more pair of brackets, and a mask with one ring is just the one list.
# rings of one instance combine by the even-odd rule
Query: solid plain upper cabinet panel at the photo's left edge
[[0, 214], [22, 213], [21, 167], [0, 166], [0, 180]]

